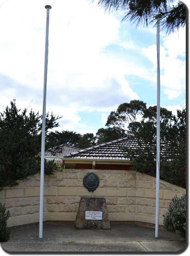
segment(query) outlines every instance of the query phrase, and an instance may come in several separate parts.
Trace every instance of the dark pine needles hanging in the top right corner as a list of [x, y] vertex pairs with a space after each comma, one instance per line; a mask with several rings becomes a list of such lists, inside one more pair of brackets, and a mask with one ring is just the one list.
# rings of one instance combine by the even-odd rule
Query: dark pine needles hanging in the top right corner
[[[94, 2], [94, 0], [91, 0]], [[122, 21], [130, 20], [144, 26], [160, 19], [160, 28], [165, 30], [166, 34], [170, 34], [180, 27], [184, 27], [186, 23], [185, 5], [173, 0], [98, 0], [98, 5], [106, 11], [124, 12]]]

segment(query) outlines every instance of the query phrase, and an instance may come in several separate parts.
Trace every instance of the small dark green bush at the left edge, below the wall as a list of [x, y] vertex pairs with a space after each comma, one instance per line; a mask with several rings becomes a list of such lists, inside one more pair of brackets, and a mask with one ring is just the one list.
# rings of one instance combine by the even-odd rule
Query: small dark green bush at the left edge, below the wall
[[6, 226], [6, 221], [10, 217], [9, 211], [5, 212], [5, 204], [0, 203], [0, 242], [6, 242], [10, 236], [10, 230]]

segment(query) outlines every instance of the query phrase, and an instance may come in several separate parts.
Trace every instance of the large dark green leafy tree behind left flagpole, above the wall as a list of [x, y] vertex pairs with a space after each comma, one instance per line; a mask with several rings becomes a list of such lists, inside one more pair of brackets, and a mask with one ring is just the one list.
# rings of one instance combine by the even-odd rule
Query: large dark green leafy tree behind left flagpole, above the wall
[[[15, 100], [11, 107], [0, 113], [0, 187], [15, 186], [17, 179], [26, 178], [40, 171], [42, 116], [32, 109], [27, 115], [21, 113]], [[46, 134], [57, 127], [57, 119], [52, 113], [46, 114]]]

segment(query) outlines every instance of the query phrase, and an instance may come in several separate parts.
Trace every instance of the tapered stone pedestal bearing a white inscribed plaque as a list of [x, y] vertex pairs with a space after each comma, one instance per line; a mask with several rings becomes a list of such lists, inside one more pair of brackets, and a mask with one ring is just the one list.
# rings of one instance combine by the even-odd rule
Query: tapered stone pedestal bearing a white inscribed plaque
[[77, 229], [110, 229], [106, 199], [82, 196], [75, 227]]

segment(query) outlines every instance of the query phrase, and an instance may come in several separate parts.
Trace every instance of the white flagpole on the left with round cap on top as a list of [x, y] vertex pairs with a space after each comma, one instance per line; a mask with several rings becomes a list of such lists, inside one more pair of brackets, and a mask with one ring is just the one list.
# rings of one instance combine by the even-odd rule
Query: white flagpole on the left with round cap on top
[[49, 34], [49, 10], [46, 5], [46, 34], [45, 34], [45, 61], [44, 61], [44, 97], [43, 97], [43, 119], [42, 119], [42, 148], [41, 148], [41, 175], [40, 175], [40, 220], [39, 238], [43, 237], [43, 206], [44, 206], [44, 153], [45, 153], [45, 111], [46, 111], [46, 85], [47, 85], [47, 60], [48, 60], [48, 34]]

